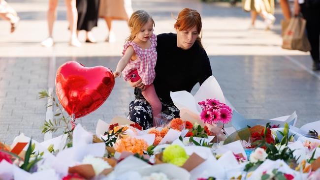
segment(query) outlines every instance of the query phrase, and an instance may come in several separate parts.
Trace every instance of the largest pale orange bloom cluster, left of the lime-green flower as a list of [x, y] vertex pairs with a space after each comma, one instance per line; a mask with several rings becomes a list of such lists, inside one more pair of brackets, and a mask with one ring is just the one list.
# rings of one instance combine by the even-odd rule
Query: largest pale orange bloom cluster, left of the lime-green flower
[[148, 144], [146, 141], [132, 137], [121, 138], [116, 141], [114, 149], [118, 152], [128, 151], [132, 153], [143, 154], [147, 150]]

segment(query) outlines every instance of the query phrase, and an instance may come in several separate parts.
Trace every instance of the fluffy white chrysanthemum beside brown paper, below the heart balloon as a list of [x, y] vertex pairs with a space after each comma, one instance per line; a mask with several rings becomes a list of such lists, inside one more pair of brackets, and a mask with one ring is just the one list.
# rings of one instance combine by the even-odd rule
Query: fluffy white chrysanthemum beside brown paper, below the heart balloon
[[87, 155], [82, 160], [83, 164], [91, 164], [94, 168], [95, 174], [100, 174], [103, 170], [111, 168], [108, 162], [101, 158], [94, 157], [92, 155]]

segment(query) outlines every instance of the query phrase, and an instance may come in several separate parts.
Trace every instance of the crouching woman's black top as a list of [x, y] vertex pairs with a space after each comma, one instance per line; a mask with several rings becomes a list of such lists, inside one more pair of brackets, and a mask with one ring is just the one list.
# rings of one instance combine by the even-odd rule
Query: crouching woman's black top
[[212, 75], [212, 70], [207, 53], [197, 42], [190, 49], [183, 50], [177, 47], [177, 34], [163, 33], [157, 38], [154, 86], [158, 97], [170, 103], [170, 91], [191, 92], [196, 83], [201, 85]]

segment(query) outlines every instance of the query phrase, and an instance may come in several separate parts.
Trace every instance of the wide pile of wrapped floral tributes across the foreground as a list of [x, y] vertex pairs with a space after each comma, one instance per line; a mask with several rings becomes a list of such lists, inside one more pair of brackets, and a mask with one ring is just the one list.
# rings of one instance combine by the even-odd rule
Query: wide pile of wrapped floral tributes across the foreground
[[10, 146], [0, 143], [0, 180], [320, 180], [320, 121], [289, 128], [270, 120], [231, 133], [228, 106], [216, 99], [199, 105], [196, 120], [150, 129], [98, 120], [95, 134], [70, 127], [61, 112], [42, 132], [62, 127], [63, 135], [39, 143], [20, 134]]

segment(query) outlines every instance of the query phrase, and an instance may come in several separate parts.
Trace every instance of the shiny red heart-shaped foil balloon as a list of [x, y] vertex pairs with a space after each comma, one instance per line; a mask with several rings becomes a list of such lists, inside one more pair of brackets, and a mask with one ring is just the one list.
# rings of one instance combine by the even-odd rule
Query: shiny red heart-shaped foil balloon
[[95, 111], [108, 98], [114, 87], [112, 71], [104, 66], [85, 67], [68, 61], [56, 75], [56, 93], [65, 111], [75, 118]]

